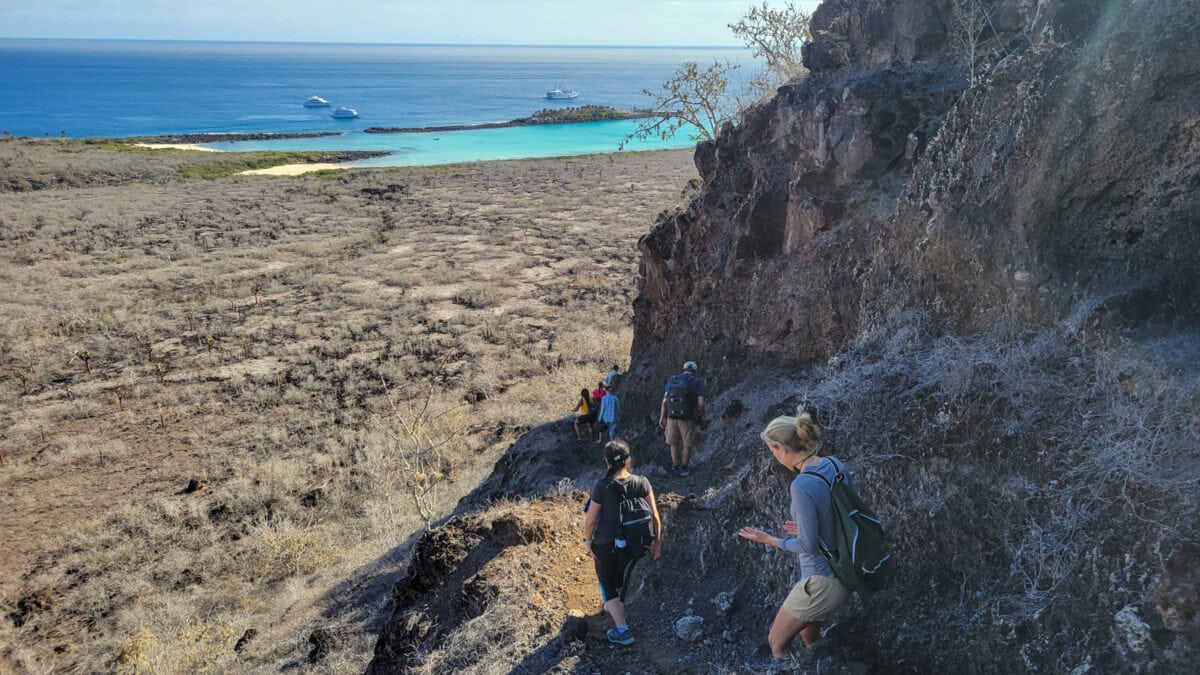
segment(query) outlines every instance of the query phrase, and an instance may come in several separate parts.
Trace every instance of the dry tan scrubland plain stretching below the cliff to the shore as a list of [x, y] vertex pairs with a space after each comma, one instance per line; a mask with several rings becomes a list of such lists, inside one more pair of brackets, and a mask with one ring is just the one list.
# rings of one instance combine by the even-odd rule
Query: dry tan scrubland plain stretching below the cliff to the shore
[[625, 365], [695, 175], [114, 148], [0, 142], [2, 670], [365, 667], [413, 534]]

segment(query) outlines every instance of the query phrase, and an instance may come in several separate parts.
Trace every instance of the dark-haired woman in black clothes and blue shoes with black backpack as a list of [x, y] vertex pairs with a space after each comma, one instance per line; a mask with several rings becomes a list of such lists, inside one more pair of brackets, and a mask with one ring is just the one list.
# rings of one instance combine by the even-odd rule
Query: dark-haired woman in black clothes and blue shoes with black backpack
[[608, 641], [634, 644], [625, 621], [625, 591], [634, 566], [647, 552], [662, 555], [662, 519], [650, 482], [632, 473], [629, 443], [611, 441], [604, 447], [608, 472], [596, 480], [583, 522], [583, 545], [595, 561], [604, 609], [612, 617]]

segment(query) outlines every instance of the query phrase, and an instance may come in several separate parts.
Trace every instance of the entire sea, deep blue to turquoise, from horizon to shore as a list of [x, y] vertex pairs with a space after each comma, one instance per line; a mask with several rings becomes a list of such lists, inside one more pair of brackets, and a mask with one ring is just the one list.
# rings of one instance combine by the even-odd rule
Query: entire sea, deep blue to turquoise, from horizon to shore
[[[193, 132], [340, 131], [337, 139], [269, 142], [256, 148], [386, 148], [425, 155], [384, 163], [608, 151], [632, 123], [571, 129], [493, 130], [419, 138], [362, 135], [368, 126], [424, 127], [503, 121], [545, 107], [644, 107], [685, 61], [746, 64], [737, 48], [478, 47], [323, 43], [232, 43], [91, 40], [0, 40], [0, 129], [19, 136], [148, 136]], [[559, 85], [580, 97], [550, 101]], [[348, 106], [305, 108], [308, 96]], [[523, 133], [517, 133], [517, 132]], [[462, 133], [476, 135], [467, 139]], [[482, 135], [482, 136], [480, 136]], [[420, 135], [418, 135], [420, 136]], [[572, 137], [580, 143], [574, 143]], [[553, 138], [550, 138], [553, 137]], [[612, 137], [616, 137], [613, 141]], [[432, 149], [458, 148], [452, 159]], [[481, 144], [492, 154], [463, 148]], [[686, 137], [666, 145], [689, 144]], [[528, 147], [529, 150], [522, 150]], [[602, 149], [598, 149], [602, 148]], [[652, 142], [636, 148], [662, 147]], [[419, 148], [426, 148], [419, 150]], [[223, 144], [222, 149], [242, 149]], [[248, 147], [247, 147], [248, 149]], [[497, 154], [498, 153], [498, 154]], [[478, 155], [478, 153], [475, 154]], [[426, 161], [427, 160], [427, 161]], [[379, 163], [379, 162], [377, 162]]]

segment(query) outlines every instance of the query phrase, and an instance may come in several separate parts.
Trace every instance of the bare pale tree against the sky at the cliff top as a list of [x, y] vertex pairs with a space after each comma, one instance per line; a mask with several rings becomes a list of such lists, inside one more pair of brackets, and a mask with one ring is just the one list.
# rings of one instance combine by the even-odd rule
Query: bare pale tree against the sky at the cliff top
[[746, 10], [738, 23], [730, 24], [733, 35], [766, 61], [766, 72], [750, 80], [760, 96], [773, 94], [779, 85], [804, 73], [800, 47], [811, 38], [811, 18], [792, 2], [772, 8], [764, 0], [761, 6]]

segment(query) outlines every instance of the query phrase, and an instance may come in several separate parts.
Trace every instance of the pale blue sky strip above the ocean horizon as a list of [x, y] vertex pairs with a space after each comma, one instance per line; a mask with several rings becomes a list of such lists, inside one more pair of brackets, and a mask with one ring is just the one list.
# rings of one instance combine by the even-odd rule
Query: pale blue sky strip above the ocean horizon
[[[751, 0], [0, 0], [0, 37], [737, 44], [726, 26], [754, 4]], [[820, 2], [797, 4], [812, 11]]]

